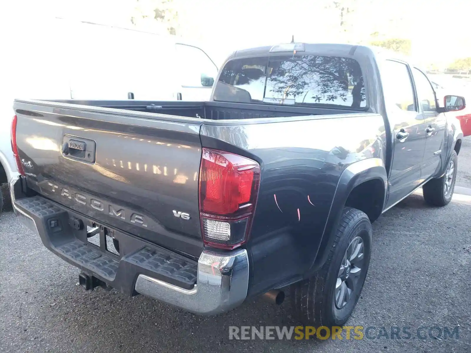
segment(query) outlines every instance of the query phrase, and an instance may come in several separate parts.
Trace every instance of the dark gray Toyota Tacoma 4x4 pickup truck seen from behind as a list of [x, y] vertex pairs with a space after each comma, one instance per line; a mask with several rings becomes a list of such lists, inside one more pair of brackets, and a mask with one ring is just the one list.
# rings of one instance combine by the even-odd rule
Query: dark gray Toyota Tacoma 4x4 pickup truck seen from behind
[[16, 100], [16, 212], [86, 289], [216, 314], [289, 288], [301, 321], [343, 324], [371, 222], [420, 187], [450, 202], [464, 98], [353, 45], [237, 51], [214, 82], [208, 102]]

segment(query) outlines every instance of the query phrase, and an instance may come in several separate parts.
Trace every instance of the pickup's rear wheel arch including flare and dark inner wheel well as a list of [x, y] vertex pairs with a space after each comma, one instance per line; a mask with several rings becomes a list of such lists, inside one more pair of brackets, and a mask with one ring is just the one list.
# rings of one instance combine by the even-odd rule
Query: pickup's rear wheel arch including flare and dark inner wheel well
[[[337, 226], [345, 206], [364, 211], [373, 222], [381, 215], [386, 200], [388, 176], [380, 158], [368, 158], [350, 164], [341, 174], [332, 205], [325, 224], [324, 233], [309, 274], [317, 271], [327, 259]], [[372, 199], [358, 198], [366, 190], [374, 193]], [[357, 206], [357, 207], [355, 207]], [[363, 208], [363, 209], [361, 209]], [[369, 214], [368, 214], [369, 213]]]

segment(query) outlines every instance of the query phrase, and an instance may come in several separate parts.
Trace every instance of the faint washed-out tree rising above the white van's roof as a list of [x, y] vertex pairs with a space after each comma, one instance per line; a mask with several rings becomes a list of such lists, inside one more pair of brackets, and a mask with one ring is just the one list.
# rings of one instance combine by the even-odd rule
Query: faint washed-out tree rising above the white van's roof
[[140, 29], [173, 35], [177, 34], [179, 27], [174, 0], [136, 0], [130, 20]]

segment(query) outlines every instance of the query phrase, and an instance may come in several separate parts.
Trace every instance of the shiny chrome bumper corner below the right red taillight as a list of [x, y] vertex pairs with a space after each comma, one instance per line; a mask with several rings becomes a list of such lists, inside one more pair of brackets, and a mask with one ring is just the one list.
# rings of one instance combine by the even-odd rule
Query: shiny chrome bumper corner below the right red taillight
[[224, 313], [242, 304], [249, 285], [247, 250], [204, 250], [198, 261], [196, 285], [187, 290], [139, 274], [138, 293], [198, 314]]

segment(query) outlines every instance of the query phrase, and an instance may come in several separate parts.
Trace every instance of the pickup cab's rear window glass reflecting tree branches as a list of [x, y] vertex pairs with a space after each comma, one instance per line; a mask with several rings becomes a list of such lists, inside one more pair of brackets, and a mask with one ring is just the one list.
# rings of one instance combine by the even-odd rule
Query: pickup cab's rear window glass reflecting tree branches
[[266, 56], [231, 60], [216, 83], [214, 100], [366, 107], [360, 65], [354, 59], [339, 56]]

